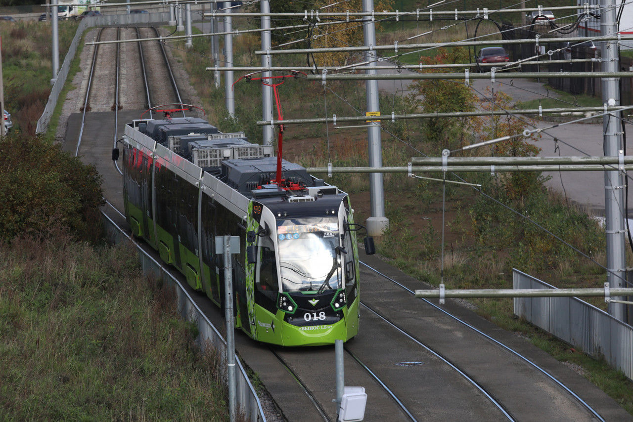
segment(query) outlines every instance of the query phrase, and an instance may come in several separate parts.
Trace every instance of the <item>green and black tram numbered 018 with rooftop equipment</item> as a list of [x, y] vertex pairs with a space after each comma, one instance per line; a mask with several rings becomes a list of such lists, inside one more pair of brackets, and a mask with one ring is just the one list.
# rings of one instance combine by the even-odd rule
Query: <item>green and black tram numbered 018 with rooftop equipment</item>
[[[224, 269], [215, 237], [239, 236], [237, 328], [285, 346], [358, 333], [361, 226], [348, 194], [273, 156], [272, 146], [220, 133], [200, 118], [134, 120], [122, 142], [132, 232], [220, 307]], [[371, 238], [365, 249], [373, 253]]]

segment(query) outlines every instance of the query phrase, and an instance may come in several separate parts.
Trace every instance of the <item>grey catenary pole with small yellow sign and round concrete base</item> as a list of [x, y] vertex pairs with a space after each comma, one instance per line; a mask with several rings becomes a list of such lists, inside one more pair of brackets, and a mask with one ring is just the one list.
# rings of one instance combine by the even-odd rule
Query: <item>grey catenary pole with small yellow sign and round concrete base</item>
[[[373, 0], [363, 0], [363, 12], [373, 11]], [[373, 18], [365, 18], [363, 22], [363, 36], [365, 46], [376, 45], [376, 30]], [[372, 51], [365, 52], [365, 60], [370, 62], [373, 69], [367, 70], [368, 75], [377, 74], [377, 63]], [[378, 82], [367, 80], [365, 83], [367, 92], [367, 111], [379, 112]], [[382, 140], [380, 139], [380, 124], [371, 123], [367, 128], [367, 142], [369, 149], [369, 166], [382, 166]], [[384, 185], [382, 173], [371, 173], [369, 176], [370, 210], [371, 216], [366, 221], [367, 234], [380, 236], [389, 227], [389, 220], [385, 217]]]

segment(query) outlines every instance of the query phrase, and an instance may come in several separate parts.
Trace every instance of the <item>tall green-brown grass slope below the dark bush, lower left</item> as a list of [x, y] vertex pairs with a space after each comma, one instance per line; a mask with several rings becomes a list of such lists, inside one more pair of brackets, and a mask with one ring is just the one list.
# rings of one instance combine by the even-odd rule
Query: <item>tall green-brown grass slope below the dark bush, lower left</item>
[[[0, 413], [15, 420], [229, 420], [222, 371], [134, 246], [0, 245]], [[209, 347], [208, 350], [213, 349]]]

